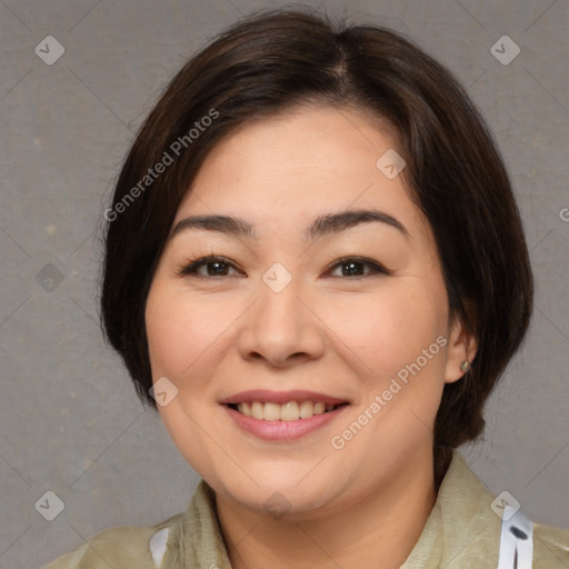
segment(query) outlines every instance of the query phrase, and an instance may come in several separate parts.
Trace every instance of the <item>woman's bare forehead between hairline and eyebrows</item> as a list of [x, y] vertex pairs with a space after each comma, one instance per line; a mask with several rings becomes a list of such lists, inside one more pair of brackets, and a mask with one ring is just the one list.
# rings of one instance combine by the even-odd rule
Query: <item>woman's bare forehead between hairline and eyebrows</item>
[[256, 226], [286, 219], [292, 229], [322, 212], [381, 208], [416, 226], [420, 212], [402, 176], [377, 166], [393, 151], [392, 129], [353, 109], [308, 106], [250, 121], [210, 151], [174, 223], [213, 213]]

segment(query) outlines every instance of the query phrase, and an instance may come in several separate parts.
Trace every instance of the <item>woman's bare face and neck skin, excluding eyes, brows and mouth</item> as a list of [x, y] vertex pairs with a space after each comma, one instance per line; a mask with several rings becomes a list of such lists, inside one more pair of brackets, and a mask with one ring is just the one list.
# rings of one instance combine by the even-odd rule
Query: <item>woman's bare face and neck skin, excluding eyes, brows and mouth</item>
[[[176, 214], [227, 214], [254, 237], [179, 231], [149, 292], [146, 323], [154, 381], [178, 389], [159, 407], [182, 456], [213, 488], [232, 566], [398, 568], [436, 501], [432, 428], [446, 382], [460, 380], [475, 340], [449, 315], [437, 248], [402, 176], [376, 167], [392, 132], [353, 109], [299, 107], [250, 122], [219, 143]], [[363, 222], [311, 241], [315, 219], [381, 210], [405, 226]], [[210, 253], [233, 266], [189, 259]], [[363, 257], [389, 274], [357, 264]], [[292, 276], [274, 292], [274, 263]], [[221, 268], [221, 276], [214, 270]], [[211, 272], [213, 269], [213, 272]], [[369, 408], [438, 337], [446, 346], [346, 446], [330, 439]], [[241, 430], [220, 400], [249, 389], [307, 389], [350, 402], [303, 438], [264, 441]], [[274, 519], [273, 493], [290, 509]]]

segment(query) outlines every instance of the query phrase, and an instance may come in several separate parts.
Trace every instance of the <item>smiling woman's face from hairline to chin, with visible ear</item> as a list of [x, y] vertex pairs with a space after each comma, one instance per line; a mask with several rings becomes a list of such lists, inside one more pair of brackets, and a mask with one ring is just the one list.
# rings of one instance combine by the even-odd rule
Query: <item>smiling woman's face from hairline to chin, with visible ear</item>
[[177, 389], [174, 443], [234, 503], [278, 491], [315, 516], [432, 468], [469, 355], [429, 226], [376, 166], [395, 147], [357, 110], [300, 108], [218, 144], [179, 207], [146, 308], [152, 377]]

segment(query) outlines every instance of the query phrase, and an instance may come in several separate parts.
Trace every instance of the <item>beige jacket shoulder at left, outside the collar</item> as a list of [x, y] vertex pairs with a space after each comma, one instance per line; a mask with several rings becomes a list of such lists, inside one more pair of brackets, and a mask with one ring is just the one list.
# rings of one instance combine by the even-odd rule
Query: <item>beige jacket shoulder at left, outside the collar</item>
[[166, 553], [170, 527], [181, 516], [151, 527], [107, 529], [43, 569], [157, 569]]

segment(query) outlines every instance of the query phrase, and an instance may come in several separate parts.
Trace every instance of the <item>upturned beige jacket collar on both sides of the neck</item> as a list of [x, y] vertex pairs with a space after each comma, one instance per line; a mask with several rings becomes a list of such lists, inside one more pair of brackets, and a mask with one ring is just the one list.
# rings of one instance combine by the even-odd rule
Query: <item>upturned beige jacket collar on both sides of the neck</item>
[[[500, 518], [492, 496], [455, 450], [423, 531], [400, 569], [496, 567]], [[167, 567], [231, 569], [216, 510], [216, 495], [201, 480], [183, 516], [172, 526]], [[166, 560], [164, 560], [166, 561]]]

